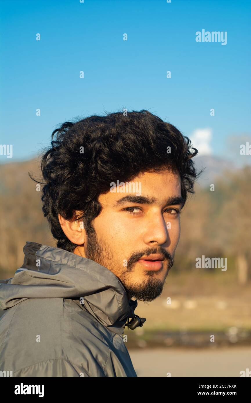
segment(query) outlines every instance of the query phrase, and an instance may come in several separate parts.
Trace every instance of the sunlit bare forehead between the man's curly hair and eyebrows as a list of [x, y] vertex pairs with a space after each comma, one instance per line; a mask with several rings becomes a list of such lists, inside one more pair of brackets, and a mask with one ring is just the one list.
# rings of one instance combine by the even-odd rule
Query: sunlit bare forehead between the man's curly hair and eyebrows
[[166, 169], [161, 172], [143, 172], [128, 182], [114, 181], [110, 191], [98, 197], [100, 203], [114, 204], [125, 195], [153, 197], [157, 204], [167, 197], [181, 196], [180, 175]]

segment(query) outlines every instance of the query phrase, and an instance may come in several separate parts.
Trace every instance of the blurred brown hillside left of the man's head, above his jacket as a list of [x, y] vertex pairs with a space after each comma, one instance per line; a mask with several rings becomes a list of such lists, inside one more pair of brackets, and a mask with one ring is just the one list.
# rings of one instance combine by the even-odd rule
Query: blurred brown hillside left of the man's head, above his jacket
[[54, 246], [40, 191], [28, 172], [36, 179], [40, 177], [38, 158], [0, 164], [0, 271], [13, 271], [22, 265], [26, 241]]

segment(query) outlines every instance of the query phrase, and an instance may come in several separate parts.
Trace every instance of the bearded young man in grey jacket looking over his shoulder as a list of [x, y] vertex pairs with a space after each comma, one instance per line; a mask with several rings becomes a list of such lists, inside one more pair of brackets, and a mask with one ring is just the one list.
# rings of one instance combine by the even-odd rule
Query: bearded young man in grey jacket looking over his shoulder
[[23, 266], [1, 281], [0, 370], [137, 376], [125, 324], [142, 326], [137, 300], [161, 295], [197, 150], [146, 110], [66, 122], [51, 144], [42, 208], [57, 247], [27, 242]]

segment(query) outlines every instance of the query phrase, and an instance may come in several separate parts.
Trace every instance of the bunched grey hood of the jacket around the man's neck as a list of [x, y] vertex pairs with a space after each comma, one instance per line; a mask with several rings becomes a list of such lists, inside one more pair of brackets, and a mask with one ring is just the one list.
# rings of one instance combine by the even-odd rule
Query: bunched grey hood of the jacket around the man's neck
[[137, 300], [107, 268], [60, 248], [26, 242], [23, 266], [0, 280], [0, 305], [7, 310], [28, 298], [69, 298], [111, 331], [123, 334]]

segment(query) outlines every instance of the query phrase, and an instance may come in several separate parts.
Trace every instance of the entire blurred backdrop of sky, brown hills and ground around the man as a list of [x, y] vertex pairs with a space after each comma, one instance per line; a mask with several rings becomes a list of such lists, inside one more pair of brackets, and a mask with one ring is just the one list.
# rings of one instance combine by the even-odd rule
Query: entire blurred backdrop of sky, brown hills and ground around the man
[[[13, 146], [11, 156], [0, 148], [0, 278], [23, 264], [26, 241], [56, 246], [28, 172], [40, 176], [57, 125], [147, 109], [190, 137], [205, 169], [163, 293], [139, 301], [146, 322], [125, 330], [134, 368], [251, 371], [251, 3], [14, 0], [0, 16], [0, 143]], [[227, 32], [227, 43], [196, 42], [203, 29]], [[196, 268], [202, 256], [227, 258], [227, 270]]]

